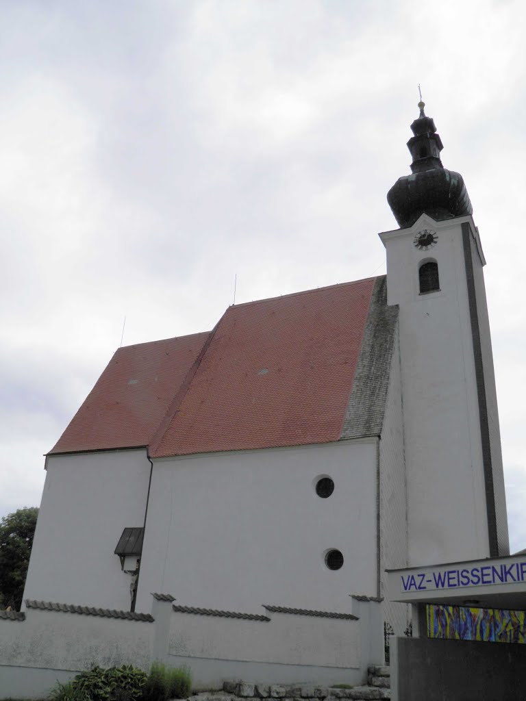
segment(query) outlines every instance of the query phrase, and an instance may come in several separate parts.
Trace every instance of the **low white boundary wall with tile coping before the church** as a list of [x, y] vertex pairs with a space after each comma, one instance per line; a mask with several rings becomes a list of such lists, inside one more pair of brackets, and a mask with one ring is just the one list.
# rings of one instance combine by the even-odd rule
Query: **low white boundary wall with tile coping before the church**
[[260, 607], [271, 620], [245, 620], [179, 613], [155, 600], [147, 622], [29, 608], [25, 620], [0, 619], [1, 696], [43, 697], [93, 665], [147, 670], [155, 659], [190, 667], [194, 688], [232, 679], [358, 684], [381, 661], [381, 606], [361, 603], [355, 613], [360, 620]]

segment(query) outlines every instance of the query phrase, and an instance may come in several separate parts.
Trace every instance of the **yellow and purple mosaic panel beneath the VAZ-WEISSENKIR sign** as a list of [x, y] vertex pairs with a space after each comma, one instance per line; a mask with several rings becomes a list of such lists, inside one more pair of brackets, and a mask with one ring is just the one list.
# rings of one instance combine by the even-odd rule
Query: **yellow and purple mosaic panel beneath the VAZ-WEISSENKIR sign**
[[428, 604], [429, 638], [526, 643], [526, 612]]

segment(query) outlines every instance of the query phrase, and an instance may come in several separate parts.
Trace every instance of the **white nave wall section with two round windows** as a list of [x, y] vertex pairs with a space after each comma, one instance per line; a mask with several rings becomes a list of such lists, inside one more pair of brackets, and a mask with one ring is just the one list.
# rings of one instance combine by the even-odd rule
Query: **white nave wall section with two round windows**
[[[329, 498], [316, 495], [323, 475]], [[157, 591], [184, 606], [345, 612], [349, 594], [376, 592], [375, 504], [375, 441], [155, 461], [137, 610]]]

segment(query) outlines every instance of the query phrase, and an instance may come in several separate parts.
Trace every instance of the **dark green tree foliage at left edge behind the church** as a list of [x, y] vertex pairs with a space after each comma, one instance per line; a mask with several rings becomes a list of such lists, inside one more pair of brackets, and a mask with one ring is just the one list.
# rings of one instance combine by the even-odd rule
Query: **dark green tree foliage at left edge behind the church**
[[20, 611], [38, 515], [32, 506], [0, 520], [0, 608]]

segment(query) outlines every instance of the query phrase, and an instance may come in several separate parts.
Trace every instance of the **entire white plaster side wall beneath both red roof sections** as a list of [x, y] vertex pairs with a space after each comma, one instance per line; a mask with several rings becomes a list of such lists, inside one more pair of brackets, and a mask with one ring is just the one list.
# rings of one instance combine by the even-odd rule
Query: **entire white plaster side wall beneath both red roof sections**
[[[129, 609], [114, 549], [144, 523], [146, 451], [50, 456], [47, 468], [24, 598]], [[323, 475], [335, 482], [326, 499]], [[376, 494], [375, 439], [156, 460], [137, 611], [155, 591], [185, 606], [347, 611], [349, 594], [377, 594]]]

